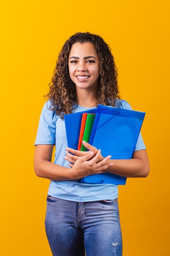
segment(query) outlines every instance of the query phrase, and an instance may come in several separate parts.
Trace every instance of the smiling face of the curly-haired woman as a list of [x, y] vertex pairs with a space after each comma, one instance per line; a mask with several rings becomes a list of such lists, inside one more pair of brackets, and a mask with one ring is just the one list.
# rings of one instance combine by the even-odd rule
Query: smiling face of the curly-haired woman
[[68, 57], [68, 68], [76, 90], [96, 90], [99, 58], [92, 43], [74, 43]]

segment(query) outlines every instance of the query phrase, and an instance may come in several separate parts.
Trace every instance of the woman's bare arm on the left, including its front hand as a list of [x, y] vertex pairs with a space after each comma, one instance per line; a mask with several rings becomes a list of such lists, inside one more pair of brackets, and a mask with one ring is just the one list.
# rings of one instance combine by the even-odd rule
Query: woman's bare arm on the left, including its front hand
[[108, 163], [110, 156], [99, 161], [101, 153], [98, 150], [95, 157], [93, 157], [94, 152], [88, 151], [86, 155], [79, 157], [71, 168], [60, 166], [51, 162], [53, 146], [53, 144], [35, 146], [34, 169], [39, 177], [50, 180], [76, 180], [88, 175], [102, 173], [113, 165]]

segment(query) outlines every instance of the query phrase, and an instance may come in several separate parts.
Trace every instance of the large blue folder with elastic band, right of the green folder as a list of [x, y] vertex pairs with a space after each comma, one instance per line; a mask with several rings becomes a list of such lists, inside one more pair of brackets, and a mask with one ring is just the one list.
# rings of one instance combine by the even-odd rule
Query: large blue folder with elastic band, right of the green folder
[[[89, 143], [111, 159], [130, 159], [134, 152], [145, 112], [99, 105]], [[82, 178], [86, 183], [124, 185], [126, 177], [101, 173]]]

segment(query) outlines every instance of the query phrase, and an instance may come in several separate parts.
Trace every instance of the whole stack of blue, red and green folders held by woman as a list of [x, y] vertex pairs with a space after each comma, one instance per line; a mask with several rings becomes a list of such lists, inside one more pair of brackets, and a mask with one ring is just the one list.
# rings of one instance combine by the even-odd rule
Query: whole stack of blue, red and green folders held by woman
[[[87, 149], [82, 145], [82, 140], [85, 140], [101, 149], [103, 157], [112, 155], [111, 159], [130, 159], [144, 117], [145, 112], [102, 105], [65, 115], [68, 147], [85, 151]], [[124, 185], [126, 177], [107, 172], [84, 177], [81, 182]]]

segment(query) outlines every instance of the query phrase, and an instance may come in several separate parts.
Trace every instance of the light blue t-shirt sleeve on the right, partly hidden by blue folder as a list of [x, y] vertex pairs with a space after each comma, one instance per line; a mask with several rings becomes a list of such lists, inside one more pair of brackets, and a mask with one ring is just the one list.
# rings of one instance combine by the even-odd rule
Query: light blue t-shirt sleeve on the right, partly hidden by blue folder
[[[125, 101], [125, 100], [117, 100], [116, 101], [116, 107], [117, 108], [125, 108], [125, 109], [128, 109], [128, 110], [132, 110], [130, 104], [127, 101]], [[135, 146], [135, 150], [134, 151], [138, 151], [138, 150], [141, 150], [141, 149], [146, 149], [146, 146], [144, 144], [144, 141], [142, 139], [141, 132], [140, 132], [138, 140], [137, 140], [137, 144]]]

